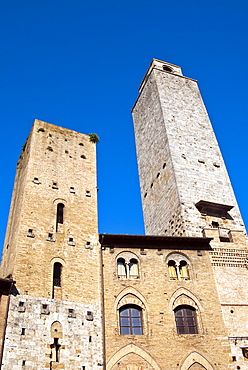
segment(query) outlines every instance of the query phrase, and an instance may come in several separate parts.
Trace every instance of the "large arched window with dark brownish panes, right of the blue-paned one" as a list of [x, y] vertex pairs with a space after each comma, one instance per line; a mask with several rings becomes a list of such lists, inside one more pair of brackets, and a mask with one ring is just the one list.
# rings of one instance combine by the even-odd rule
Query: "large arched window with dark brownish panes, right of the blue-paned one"
[[191, 306], [179, 306], [174, 310], [177, 334], [198, 334], [196, 312]]

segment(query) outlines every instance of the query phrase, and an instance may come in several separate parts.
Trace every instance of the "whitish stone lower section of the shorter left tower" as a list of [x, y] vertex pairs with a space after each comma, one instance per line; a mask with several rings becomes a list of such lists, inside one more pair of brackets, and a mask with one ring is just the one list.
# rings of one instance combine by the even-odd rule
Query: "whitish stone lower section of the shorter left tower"
[[[24, 302], [20, 311], [19, 302]], [[48, 313], [42, 313], [42, 305]], [[69, 317], [73, 309], [75, 317]], [[87, 320], [87, 311], [93, 321]], [[51, 326], [62, 325], [59, 338], [59, 363], [53, 363]], [[25, 329], [24, 334], [23, 329]], [[89, 338], [91, 337], [91, 341]], [[25, 366], [23, 366], [25, 361]], [[2, 370], [19, 369], [101, 369], [102, 337], [98, 305], [19, 295], [11, 297]]]

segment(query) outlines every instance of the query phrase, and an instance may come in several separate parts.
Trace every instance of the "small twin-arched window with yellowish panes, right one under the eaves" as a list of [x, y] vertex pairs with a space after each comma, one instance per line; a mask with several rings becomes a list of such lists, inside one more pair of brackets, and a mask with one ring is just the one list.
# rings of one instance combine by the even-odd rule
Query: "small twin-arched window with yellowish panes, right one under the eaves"
[[189, 263], [185, 256], [172, 254], [167, 264], [170, 280], [189, 280]]

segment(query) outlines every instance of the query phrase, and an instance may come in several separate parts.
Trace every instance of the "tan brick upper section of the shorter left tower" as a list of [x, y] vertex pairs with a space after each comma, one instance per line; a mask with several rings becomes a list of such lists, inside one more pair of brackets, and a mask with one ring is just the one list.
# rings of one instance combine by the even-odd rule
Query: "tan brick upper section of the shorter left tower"
[[[58, 203], [65, 205], [64, 223], [56, 232]], [[47, 241], [48, 233], [54, 241]], [[2, 276], [12, 274], [21, 294], [50, 298], [53, 265], [60, 262], [61, 298], [95, 302], [97, 246], [95, 144], [88, 135], [36, 120], [17, 168]]]

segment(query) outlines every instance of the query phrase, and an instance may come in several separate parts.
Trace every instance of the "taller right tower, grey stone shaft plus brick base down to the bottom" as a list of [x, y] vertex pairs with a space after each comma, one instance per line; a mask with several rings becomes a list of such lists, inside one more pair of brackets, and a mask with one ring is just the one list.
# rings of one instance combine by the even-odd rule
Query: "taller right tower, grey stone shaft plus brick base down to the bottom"
[[213, 238], [232, 358], [248, 369], [245, 228], [197, 82], [154, 59], [139, 93], [132, 113], [146, 233]]

